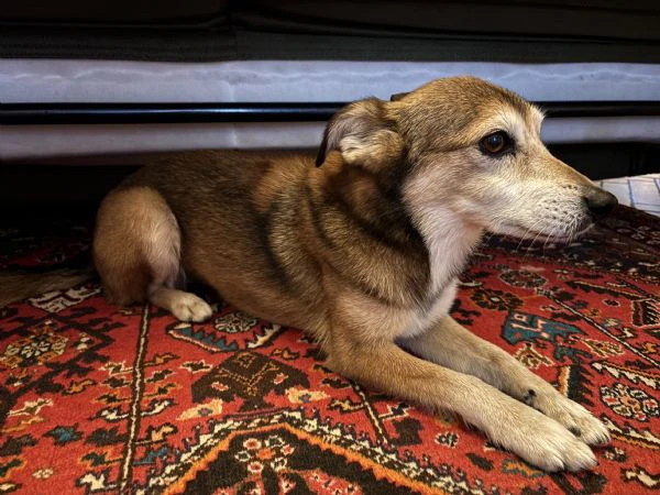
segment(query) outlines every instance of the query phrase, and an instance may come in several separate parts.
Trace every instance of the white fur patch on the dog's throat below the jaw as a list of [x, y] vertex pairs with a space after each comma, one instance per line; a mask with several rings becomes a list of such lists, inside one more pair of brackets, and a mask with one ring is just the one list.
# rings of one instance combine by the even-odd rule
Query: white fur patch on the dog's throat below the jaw
[[429, 296], [439, 297], [463, 271], [483, 233], [449, 208], [418, 207], [413, 219], [429, 252]]

